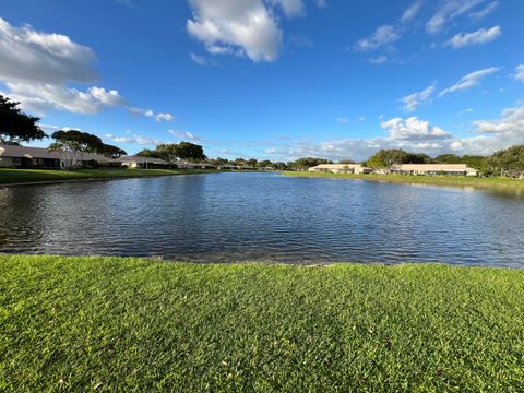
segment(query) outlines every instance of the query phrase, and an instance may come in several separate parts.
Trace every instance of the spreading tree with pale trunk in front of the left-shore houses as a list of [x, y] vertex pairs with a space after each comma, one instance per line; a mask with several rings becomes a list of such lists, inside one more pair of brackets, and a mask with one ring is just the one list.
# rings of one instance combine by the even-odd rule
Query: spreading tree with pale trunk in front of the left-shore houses
[[52, 133], [56, 141], [49, 151], [58, 152], [68, 168], [75, 168], [82, 163], [83, 153], [99, 153], [104, 150], [102, 140], [87, 132], [60, 130]]

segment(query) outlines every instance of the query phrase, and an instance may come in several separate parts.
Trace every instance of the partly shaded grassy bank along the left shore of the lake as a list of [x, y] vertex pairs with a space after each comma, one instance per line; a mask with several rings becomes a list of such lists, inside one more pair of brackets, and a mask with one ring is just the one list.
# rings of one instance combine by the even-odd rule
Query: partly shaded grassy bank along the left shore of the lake
[[0, 169], [0, 184], [13, 184], [38, 181], [67, 181], [88, 179], [115, 179], [145, 176], [167, 176], [181, 174], [206, 174], [216, 170], [202, 169]]

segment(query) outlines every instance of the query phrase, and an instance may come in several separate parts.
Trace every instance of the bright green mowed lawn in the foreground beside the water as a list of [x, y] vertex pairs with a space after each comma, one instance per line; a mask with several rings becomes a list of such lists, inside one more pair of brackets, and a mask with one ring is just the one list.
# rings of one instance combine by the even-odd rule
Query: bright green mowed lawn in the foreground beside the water
[[524, 391], [524, 271], [0, 255], [0, 391]]

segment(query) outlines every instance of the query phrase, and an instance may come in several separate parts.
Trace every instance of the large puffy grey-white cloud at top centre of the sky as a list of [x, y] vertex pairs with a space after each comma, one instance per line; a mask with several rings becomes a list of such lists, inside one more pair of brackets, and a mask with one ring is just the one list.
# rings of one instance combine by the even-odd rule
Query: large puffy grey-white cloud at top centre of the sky
[[188, 20], [191, 36], [204, 43], [212, 53], [240, 50], [253, 61], [274, 61], [282, 46], [283, 32], [271, 4], [295, 15], [301, 1], [189, 0], [193, 19]]

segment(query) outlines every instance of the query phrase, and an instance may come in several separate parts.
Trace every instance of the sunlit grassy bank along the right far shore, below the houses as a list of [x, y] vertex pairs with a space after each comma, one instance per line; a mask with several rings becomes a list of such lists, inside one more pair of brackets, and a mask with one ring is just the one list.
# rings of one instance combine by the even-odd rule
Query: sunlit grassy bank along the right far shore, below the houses
[[508, 178], [474, 178], [462, 176], [403, 176], [403, 175], [352, 175], [306, 171], [286, 171], [285, 176], [338, 178], [369, 181], [388, 181], [415, 184], [436, 184], [453, 187], [508, 188], [524, 190], [524, 180]]

